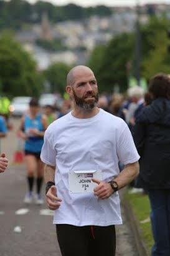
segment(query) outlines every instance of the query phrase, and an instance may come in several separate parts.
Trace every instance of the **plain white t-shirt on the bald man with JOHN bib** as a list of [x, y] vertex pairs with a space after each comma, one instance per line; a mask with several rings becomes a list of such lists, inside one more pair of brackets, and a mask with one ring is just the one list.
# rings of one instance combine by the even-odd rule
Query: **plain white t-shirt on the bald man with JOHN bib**
[[118, 192], [100, 200], [93, 193], [70, 193], [69, 170], [102, 170], [109, 182], [123, 164], [139, 160], [125, 121], [100, 109], [92, 118], [80, 119], [72, 113], [54, 121], [45, 131], [41, 160], [55, 170], [57, 196], [62, 199], [54, 212], [54, 224], [108, 226], [121, 224]]

